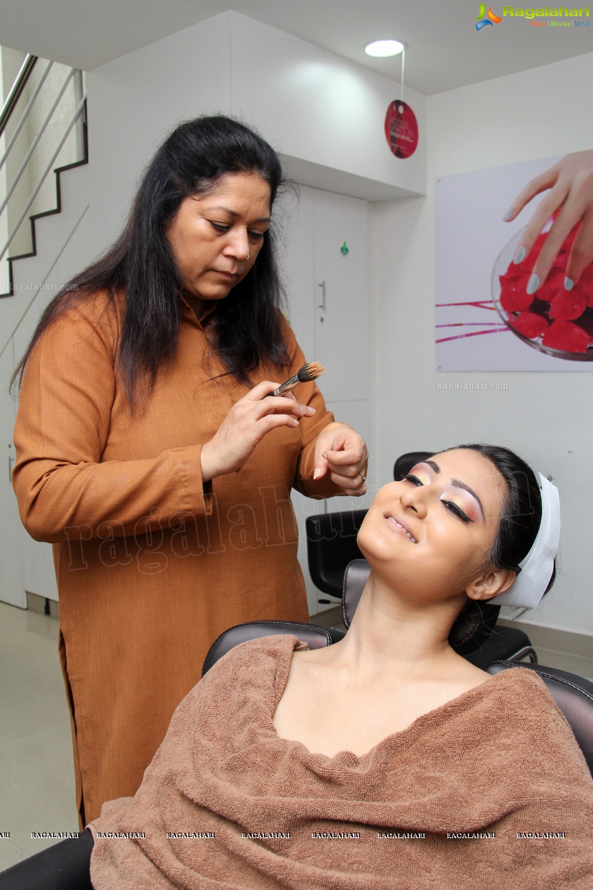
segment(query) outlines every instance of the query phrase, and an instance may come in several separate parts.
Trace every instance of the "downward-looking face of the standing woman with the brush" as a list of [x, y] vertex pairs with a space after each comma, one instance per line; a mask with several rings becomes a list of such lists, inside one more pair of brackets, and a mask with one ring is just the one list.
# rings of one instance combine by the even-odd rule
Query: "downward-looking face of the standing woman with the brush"
[[259, 174], [236, 173], [181, 202], [165, 234], [187, 295], [221, 300], [244, 279], [268, 229], [270, 197]]

